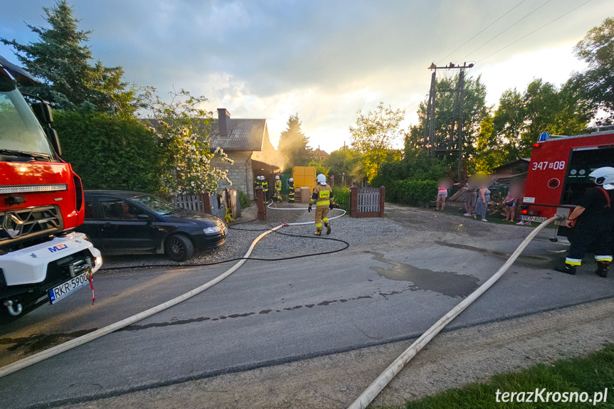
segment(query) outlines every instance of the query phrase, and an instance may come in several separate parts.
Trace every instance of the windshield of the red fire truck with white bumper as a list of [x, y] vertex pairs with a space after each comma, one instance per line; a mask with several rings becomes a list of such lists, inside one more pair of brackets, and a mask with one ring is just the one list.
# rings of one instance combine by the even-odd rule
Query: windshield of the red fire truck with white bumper
[[55, 159], [55, 153], [41, 124], [30, 106], [16, 89], [13, 81], [0, 74], [0, 150], [45, 154]]

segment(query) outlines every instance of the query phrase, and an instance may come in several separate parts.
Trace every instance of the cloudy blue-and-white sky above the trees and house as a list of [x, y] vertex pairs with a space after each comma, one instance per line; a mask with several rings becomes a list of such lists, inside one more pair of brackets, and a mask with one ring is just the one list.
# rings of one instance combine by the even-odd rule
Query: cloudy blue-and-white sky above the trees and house
[[[54, 3], [4, 4], [0, 36], [36, 41], [25, 23], [46, 25], [42, 7]], [[489, 104], [533, 78], [559, 85], [584, 67], [573, 46], [614, 16], [612, 0], [69, 4], [80, 28], [93, 31], [94, 57], [122, 65], [127, 80], [161, 93], [183, 87], [205, 95], [213, 112], [225, 107], [232, 117], [266, 118], [275, 145], [288, 117], [298, 113], [312, 147], [329, 152], [350, 143], [356, 110], [380, 101], [405, 109], [405, 126], [415, 122], [433, 62], [475, 63], [468, 75], [482, 75]], [[16, 62], [11, 48], [1, 44], [0, 55]]]

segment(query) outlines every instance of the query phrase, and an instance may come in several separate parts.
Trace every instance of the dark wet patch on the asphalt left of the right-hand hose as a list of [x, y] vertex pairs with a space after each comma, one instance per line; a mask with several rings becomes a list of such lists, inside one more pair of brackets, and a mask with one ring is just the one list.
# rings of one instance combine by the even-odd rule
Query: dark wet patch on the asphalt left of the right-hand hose
[[371, 267], [371, 270], [388, 280], [412, 282], [410, 290], [434, 291], [448, 297], [467, 297], [478, 287], [479, 280], [470, 275], [418, 268], [403, 262], [388, 260], [381, 253], [367, 253], [374, 255], [374, 260], [391, 265], [388, 268]]

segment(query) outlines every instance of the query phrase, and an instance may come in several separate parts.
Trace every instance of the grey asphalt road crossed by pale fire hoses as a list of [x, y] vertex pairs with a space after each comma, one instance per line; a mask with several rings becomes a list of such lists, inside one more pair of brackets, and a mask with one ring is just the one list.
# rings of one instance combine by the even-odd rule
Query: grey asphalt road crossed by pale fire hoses
[[[614, 278], [593, 275], [593, 265], [575, 277], [553, 272], [566, 246], [548, 234], [448, 329], [614, 297]], [[247, 262], [176, 307], [0, 378], [0, 408], [87, 400], [412, 338], [522, 241], [448, 234], [416, 244], [416, 235], [408, 230], [407, 238], [327, 257]], [[94, 306], [79, 290], [0, 326], [0, 365], [165, 302], [228, 267], [101, 273]]]

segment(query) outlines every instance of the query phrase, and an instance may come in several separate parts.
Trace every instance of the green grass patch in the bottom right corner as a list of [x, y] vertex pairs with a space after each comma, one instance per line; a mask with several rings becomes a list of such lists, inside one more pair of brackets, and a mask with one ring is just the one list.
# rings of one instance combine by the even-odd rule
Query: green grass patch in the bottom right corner
[[[566, 358], [553, 364], [540, 363], [519, 372], [493, 376], [487, 383], [471, 383], [463, 388], [449, 389], [420, 400], [408, 401], [406, 409], [457, 409], [457, 408], [592, 408], [593, 403], [497, 403], [497, 391], [529, 392], [546, 388], [548, 392], [586, 392], [591, 400], [595, 393], [608, 388], [607, 400], [597, 403], [597, 408], [614, 408], [614, 345], [608, 345], [585, 358]], [[501, 395], [499, 395], [501, 396]], [[527, 395], [528, 397], [528, 395]], [[552, 400], [552, 398], [550, 399]]]

